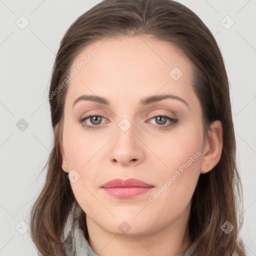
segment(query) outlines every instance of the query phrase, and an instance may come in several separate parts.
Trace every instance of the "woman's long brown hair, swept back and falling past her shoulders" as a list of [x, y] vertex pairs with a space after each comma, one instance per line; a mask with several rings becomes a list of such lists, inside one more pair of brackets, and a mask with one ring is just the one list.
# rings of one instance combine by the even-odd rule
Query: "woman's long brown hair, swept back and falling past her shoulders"
[[[48, 94], [54, 144], [45, 164], [45, 183], [31, 209], [33, 242], [42, 255], [63, 255], [64, 228], [70, 214], [71, 222], [79, 219], [88, 239], [85, 213], [61, 167], [59, 145], [68, 85], [59, 89], [59, 83], [70, 73], [74, 57], [86, 45], [110, 36], [139, 34], [169, 42], [185, 53], [193, 65], [193, 90], [201, 104], [204, 131], [214, 120], [220, 120], [223, 127], [221, 158], [211, 171], [199, 176], [192, 196], [187, 232], [192, 241], [198, 240], [192, 255], [230, 256], [236, 250], [242, 256], [244, 246], [237, 239], [242, 224], [242, 214], [237, 213], [242, 187], [235, 163], [229, 84], [222, 55], [200, 18], [172, 0], [103, 0], [79, 16], [66, 31], [56, 55]], [[52, 96], [56, 89], [58, 92]], [[229, 234], [220, 228], [227, 220], [234, 226]]]

